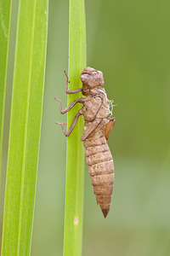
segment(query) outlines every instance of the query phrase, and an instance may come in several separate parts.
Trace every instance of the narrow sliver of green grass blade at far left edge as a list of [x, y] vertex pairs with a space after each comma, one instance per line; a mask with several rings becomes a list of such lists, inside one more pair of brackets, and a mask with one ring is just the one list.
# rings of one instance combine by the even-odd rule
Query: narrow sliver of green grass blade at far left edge
[[11, 0], [0, 0], [0, 170], [3, 147], [3, 114], [7, 76], [8, 38]]

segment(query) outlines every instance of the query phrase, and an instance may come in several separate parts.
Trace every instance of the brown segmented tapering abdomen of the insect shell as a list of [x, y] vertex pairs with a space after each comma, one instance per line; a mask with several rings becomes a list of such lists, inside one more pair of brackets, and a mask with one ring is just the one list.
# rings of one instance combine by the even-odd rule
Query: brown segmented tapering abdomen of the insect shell
[[93, 137], [83, 141], [88, 172], [94, 186], [94, 194], [104, 216], [111, 207], [114, 184], [114, 164], [104, 131], [97, 131]]

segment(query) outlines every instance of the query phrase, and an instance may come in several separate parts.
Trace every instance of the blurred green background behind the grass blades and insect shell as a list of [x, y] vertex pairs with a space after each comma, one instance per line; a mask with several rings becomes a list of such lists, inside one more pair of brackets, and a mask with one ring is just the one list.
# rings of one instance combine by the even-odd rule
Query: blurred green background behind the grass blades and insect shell
[[[86, 0], [88, 66], [101, 70], [114, 99], [109, 145], [116, 182], [106, 219], [85, 164], [82, 256], [170, 255], [170, 2]], [[4, 189], [14, 68], [17, 3], [13, 1], [3, 145]], [[48, 52], [32, 256], [62, 255], [69, 3], [49, 1]], [[36, 120], [35, 120], [36, 121]], [[73, 148], [74, 150], [74, 148]], [[1, 195], [3, 201], [3, 192]], [[2, 203], [1, 203], [2, 206]], [[1, 207], [1, 223], [2, 223]]]

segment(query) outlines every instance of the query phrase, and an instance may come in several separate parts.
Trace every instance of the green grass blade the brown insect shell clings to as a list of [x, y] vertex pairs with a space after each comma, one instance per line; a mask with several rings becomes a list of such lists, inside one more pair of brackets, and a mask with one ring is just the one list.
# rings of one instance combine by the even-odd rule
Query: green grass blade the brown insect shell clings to
[[[69, 90], [82, 87], [80, 74], [86, 67], [86, 25], [83, 0], [70, 0], [70, 44], [69, 44]], [[70, 95], [68, 104], [79, 95]], [[77, 105], [68, 113], [70, 127], [78, 109]], [[83, 131], [83, 118], [67, 140], [67, 173], [65, 196], [65, 238], [64, 255], [81, 255], [82, 253], [82, 207], [84, 178], [84, 149], [80, 142]]]

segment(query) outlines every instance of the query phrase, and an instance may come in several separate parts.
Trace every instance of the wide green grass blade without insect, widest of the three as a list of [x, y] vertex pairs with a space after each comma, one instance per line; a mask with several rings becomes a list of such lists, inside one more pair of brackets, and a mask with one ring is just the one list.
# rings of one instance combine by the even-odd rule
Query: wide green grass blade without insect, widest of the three
[[2, 256], [30, 255], [42, 120], [48, 0], [20, 0]]

